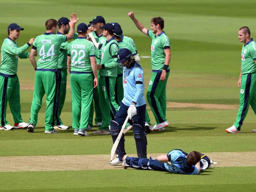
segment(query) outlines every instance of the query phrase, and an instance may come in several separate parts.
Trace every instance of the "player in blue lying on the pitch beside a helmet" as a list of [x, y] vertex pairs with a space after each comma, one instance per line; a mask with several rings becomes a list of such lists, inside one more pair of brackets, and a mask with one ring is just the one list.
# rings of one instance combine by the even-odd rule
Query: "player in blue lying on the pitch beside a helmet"
[[176, 174], [199, 174], [200, 170], [205, 170], [211, 167], [211, 164], [216, 164], [208, 158], [208, 156], [197, 151], [192, 151], [189, 154], [180, 150], [174, 149], [167, 154], [160, 155], [156, 159], [146, 159], [137, 157], [123, 157], [123, 168], [136, 168], [142, 170], [165, 171]]

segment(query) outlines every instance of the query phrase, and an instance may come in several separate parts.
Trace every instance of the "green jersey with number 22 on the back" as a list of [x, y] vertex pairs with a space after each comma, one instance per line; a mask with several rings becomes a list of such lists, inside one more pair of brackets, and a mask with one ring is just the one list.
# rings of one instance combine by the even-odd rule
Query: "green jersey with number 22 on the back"
[[95, 57], [95, 47], [92, 42], [84, 37], [72, 41], [68, 48], [71, 58], [71, 71], [92, 72], [90, 57]]

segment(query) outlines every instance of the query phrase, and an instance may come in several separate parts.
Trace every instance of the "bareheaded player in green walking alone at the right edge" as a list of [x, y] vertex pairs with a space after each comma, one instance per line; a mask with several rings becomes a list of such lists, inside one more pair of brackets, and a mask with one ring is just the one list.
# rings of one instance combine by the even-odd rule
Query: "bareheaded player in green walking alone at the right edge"
[[[241, 53], [241, 71], [238, 80], [240, 105], [234, 125], [225, 130], [228, 133], [240, 133], [250, 105], [256, 114], [256, 43], [250, 38], [250, 29], [246, 26], [239, 29], [238, 38], [240, 42], [244, 43]], [[252, 131], [256, 132], [256, 129]]]

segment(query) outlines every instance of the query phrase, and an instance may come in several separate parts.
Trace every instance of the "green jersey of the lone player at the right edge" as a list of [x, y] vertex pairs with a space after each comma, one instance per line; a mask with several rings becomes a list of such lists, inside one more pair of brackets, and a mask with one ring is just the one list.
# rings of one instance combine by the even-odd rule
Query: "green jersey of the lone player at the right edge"
[[241, 71], [242, 74], [256, 72], [256, 43], [253, 39], [242, 46], [241, 53]]

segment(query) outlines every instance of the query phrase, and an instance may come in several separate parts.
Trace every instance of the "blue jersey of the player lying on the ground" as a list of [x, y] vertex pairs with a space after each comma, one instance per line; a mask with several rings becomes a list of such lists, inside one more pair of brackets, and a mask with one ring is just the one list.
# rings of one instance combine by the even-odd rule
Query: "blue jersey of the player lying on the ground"
[[186, 161], [186, 152], [180, 149], [174, 149], [168, 152], [167, 157], [171, 164], [164, 163], [164, 167], [169, 172], [190, 175], [196, 175], [199, 173], [198, 169], [194, 165], [192, 167], [188, 166]]

